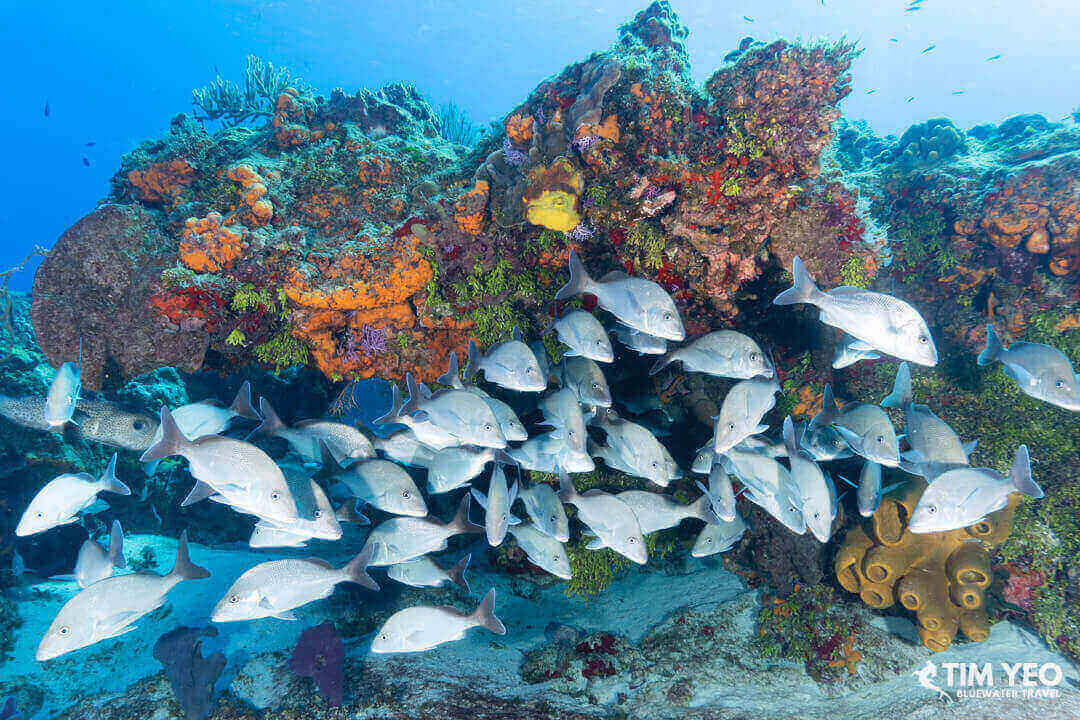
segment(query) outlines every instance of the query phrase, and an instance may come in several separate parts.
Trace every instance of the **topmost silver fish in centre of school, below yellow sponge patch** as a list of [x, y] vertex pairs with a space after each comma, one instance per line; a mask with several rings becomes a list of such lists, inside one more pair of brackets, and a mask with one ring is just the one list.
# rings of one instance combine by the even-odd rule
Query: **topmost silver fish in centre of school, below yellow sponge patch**
[[675, 302], [652, 281], [613, 271], [596, 282], [573, 250], [569, 266], [570, 280], [555, 294], [556, 301], [589, 293], [623, 325], [665, 340], [681, 341], [686, 337]]

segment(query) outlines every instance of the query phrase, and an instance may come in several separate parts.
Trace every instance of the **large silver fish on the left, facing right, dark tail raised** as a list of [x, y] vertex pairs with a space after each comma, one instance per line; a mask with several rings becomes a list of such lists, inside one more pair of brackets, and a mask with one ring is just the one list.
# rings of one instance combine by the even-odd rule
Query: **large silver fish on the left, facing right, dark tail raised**
[[240, 513], [289, 524], [299, 517], [296, 501], [281, 468], [251, 443], [220, 435], [189, 440], [168, 408], [161, 408], [162, 438], [147, 448], [140, 462], [180, 456], [198, 480], [181, 506], [213, 498]]

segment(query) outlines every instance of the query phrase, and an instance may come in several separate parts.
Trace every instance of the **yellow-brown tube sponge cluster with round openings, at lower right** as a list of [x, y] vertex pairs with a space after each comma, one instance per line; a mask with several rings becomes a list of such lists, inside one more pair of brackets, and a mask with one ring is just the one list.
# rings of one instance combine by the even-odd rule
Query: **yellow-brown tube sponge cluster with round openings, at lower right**
[[990, 551], [1009, 536], [1018, 495], [969, 528], [916, 534], [907, 520], [924, 489], [921, 480], [913, 481], [903, 495], [882, 499], [865, 527], [848, 531], [835, 571], [840, 585], [870, 608], [899, 601], [914, 612], [922, 643], [941, 652], [958, 628], [969, 640], [989, 637]]

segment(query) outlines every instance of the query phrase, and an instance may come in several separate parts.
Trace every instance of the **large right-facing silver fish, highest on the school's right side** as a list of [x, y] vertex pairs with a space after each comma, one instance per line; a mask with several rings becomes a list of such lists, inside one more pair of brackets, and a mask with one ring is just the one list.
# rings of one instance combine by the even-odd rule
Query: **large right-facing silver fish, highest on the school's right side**
[[795, 283], [772, 301], [778, 305], [806, 302], [816, 305], [821, 322], [837, 327], [874, 350], [919, 365], [937, 365], [937, 349], [930, 328], [903, 300], [862, 287], [837, 287], [823, 293], [814, 285], [802, 260], [792, 262]]

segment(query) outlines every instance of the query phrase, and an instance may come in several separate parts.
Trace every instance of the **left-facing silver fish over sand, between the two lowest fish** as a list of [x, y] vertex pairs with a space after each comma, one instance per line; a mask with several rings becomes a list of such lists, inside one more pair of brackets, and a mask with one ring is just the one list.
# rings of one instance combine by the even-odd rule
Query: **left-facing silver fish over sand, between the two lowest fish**
[[379, 586], [367, 574], [372, 547], [340, 568], [319, 558], [289, 558], [260, 562], [237, 579], [211, 613], [214, 623], [260, 617], [296, 620], [293, 610], [327, 598], [338, 583], [356, 583], [373, 590]]

